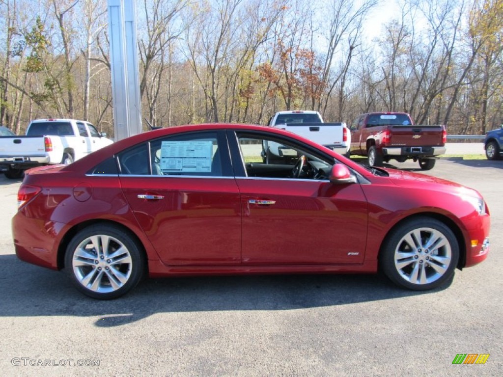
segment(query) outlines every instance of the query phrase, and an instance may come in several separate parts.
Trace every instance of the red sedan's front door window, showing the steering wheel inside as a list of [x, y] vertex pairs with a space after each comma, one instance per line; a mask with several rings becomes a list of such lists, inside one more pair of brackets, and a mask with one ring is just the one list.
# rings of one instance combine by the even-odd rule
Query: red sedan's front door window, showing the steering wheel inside
[[266, 135], [238, 134], [237, 140], [248, 177], [327, 179], [334, 163]]

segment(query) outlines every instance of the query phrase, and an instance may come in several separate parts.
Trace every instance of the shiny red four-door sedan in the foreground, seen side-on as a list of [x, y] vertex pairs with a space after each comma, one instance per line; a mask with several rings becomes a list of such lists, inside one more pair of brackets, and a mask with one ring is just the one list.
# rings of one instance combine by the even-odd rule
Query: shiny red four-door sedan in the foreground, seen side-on
[[[268, 145], [280, 152], [275, 164], [264, 158]], [[18, 257], [64, 268], [97, 299], [125, 294], [145, 274], [380, 268], [401, 287], [428, 290], [484, 260], [489, 246], [489, 212], [475, 190], [364, 167], [261, 126], [136, 135], [29, 170], [18, 202]]]

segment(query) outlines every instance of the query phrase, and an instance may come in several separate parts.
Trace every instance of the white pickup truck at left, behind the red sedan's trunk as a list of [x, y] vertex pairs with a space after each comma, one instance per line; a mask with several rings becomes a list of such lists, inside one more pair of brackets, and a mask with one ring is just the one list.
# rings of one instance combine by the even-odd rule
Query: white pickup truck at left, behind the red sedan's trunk
[[112, 143], [86, 121], [38, 119], [29, 124], [26, 136], [0, 136], [0, 171], [21, 178], [31, 167], [69, 164]]

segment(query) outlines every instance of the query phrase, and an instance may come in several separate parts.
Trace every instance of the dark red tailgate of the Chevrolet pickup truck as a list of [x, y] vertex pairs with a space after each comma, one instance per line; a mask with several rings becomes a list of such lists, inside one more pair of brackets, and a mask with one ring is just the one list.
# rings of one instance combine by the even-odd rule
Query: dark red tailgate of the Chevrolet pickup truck
[[389, 146], [443, 146], [442, 126], [393, 126]]

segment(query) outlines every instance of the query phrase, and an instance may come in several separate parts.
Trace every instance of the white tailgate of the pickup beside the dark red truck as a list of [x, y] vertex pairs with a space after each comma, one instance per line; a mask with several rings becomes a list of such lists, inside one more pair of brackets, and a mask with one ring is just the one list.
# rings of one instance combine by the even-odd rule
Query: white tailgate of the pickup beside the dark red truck
[[288, 123], [274, 127], [293, 132], [321, 145], [341, 145], [343, 142], [342, 123]]

